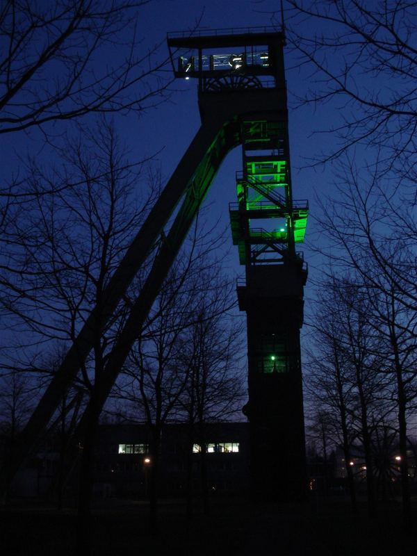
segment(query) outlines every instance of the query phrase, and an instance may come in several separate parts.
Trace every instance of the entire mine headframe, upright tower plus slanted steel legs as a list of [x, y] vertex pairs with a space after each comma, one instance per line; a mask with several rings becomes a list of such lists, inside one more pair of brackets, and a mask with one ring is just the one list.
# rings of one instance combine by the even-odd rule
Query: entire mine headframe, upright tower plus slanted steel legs
[[[238, 177], [238, 204], [231, 210], [231, 220], [240, 260], [246, 264], [247, 271], [247, 285], [238, 288], [238, 295], [248, 318], [248, 411], [253, 431], [254, 477], [263, 473], [260, 459], [256, 457], [258, 448], [264, 450], [263, 436], [269, 446], [282, 447], [284, 443], [277, 435], [284, 430], [288, 432], [292, 420], [297, 422], [295, 444], [300, 448], [303, 442], [298, 331], [306, 273], [294, 244], [304, 234], [306, 206], [293, 203], [291, 198], [284, 36], [264, 28], [213, 31], [204, 36], [176, 33], [168, 36], [167, 44], [174, 74], [181, 79], [198, 79], [202, 124], [109, 281], [100, 306], [92, 309], [80, 327], [79, 335], [3, 465], [0, 485], [3, 492], [42, 436], [63, 393], [74, 383], [92, 349], [97, 322], [100, 326], [106, 325], [149, 253], [156, 250], [142, 291], [131, 307], [115, 347], [108, 354], [95, 398], [102, 407], [216, 172], [227, 152], [237, 145], [243, 145], [244, 169]], [[170, 225], [172, 216], [174, 220]], [[251, 227], [251, 220], [278, 222], [278, 228]], [[274, 309], [267, 311], [268, 300]], [[259, 310], [256, 309], [258, 303]], [[254, 324], [258, 322], [259, 325]], [[259, 332], [261, 329], [264, 332]], [[272, 337], [277, 341], [272, 341]], [[259, 342], [268, 345], [263, 350], [263, 359], [258, 353]], [[266, 353], [270, 348], [269, 357], [273, 363], [268, 366]], [[261, 363], [262, 371], [258, 370]], [[284, 367], [286, 373], [281, 372]], [[289, 379], [283, 381], [282, 377]], [[287, 394], [295, 406], [288, 407], [289, 417], [284, 419], [274, 408], [282, 405], [280, 400]], [[261, 407], [265, 407], [265, 411], [261, 411]], [[83, 441], [85, 423], [91, 415], [97, 416], [97, 405], [93, 408], [90, 404], [85, 410], [76, 443]], [[278, 424], [275, 423], [277, 419]], [[268, 435], [263, 435], [264, 425]], [[302, 465], [302, 452], [301, 448], [292, 450], [291, 454], [298, 458], [295, 466]], [[281, 452], [275, 453], [268, 448], [263, 454], [270, 477], [275, 471], [280, 473], [281, 461], [284, 461]], [[277, 467], [274, 471], [271, 458], [275, 456]]]

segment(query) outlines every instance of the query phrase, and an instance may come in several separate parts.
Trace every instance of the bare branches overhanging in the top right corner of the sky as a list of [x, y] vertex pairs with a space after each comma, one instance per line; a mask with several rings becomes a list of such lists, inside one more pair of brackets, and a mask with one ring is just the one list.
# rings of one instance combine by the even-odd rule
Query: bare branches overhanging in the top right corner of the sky
[[[332, 103], [341, 142], [384, 150], [384, 170], [415, 174], [417, 4], [407, 0], [287, 0], [286, 35], [309, 72], [300, 101]], [[336, 117], [336, 116], [335, 116]], [[414, 180], [415, 181], [415, 180]]]

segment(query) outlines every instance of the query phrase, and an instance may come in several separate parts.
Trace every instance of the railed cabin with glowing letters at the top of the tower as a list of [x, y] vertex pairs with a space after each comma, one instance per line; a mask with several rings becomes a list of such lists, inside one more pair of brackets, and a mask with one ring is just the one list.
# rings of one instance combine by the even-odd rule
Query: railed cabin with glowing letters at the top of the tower
[[245, 106], [257, 113], [286, 110], [284, 33], [270, 27], [169, 33], [167, 44], [174, 75], [198, 79], [202, 120], [213, 111], [214, 95], [236, 113]]

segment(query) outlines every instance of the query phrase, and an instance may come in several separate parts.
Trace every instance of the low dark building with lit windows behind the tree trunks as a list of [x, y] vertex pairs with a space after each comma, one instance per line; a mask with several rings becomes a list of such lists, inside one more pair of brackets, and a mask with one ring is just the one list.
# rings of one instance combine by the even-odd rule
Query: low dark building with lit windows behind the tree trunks
[[[238, 493], [249, 489], [249, 427], [247, 423], [205, 425], [205, 454], [184, 424], [163, 427], [158, 465], [161, 496], [182, 496], [188, 465], [193, 491], [199, 490], [202, 457], [208, 489]], [[95, 459], [95, 493], [99, 496], [146, 496], [152, 457], [147, 425], [101, 425]]]

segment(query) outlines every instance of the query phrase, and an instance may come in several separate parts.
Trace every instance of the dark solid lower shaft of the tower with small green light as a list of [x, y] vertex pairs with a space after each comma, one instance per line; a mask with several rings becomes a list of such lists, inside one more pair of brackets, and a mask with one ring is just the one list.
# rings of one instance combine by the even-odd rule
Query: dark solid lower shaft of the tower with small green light
[[300, 265], [248, 269], [238, 286], [247, 313], [252, 494], [298, 500], [306, 494], [300, 327]]

